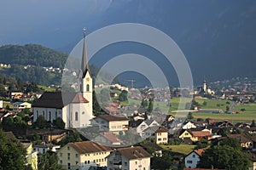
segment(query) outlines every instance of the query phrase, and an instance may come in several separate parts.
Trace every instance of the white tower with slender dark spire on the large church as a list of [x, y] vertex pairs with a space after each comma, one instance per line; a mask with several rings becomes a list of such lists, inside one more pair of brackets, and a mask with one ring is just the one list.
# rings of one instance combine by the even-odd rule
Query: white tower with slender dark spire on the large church
[[86, 43], [85, 43], [85, 28], [84, 28], [84, 44], [81, 69], [79, 71], [79, 93], [83, 95], [85, 99], [89, 101], [87, 112], [92, 114], [92, 78], [90, 73], [90, 67], [87, 59]]

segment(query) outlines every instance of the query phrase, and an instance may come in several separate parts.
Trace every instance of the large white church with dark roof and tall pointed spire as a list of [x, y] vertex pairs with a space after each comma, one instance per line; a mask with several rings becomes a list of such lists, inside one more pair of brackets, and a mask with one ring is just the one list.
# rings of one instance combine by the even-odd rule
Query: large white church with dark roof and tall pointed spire
[[[84, 44], [82, 63], [79, 70], [79, 92], [61, 93], [44, 92], [42, 96], [32, 105], [33, 122], [38, 116], [44, 116], [46, 121], [53, 122], [57, 117], [61, 117], [66, 127], [78, 128], [90, 126], [90, 120], [94, 118], [92, 110], [92, 77], [87, 60], [87, 51]], [[63, 99], [64, 100], [63, 100]]]

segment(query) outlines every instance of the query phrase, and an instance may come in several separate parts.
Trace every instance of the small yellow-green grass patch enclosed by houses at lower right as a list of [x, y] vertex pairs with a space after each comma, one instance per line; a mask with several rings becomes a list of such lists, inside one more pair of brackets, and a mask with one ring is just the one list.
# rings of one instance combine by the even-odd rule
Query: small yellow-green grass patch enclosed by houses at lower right
[[181, 153], [184, 155], [188, 155], [189, 152], [194, 150], [195, 145], [191, 145], [191, 144], [161, 145], [161, 147], [165, 150], [170, 150], [172, 152], [177, 152], [177, 153]]

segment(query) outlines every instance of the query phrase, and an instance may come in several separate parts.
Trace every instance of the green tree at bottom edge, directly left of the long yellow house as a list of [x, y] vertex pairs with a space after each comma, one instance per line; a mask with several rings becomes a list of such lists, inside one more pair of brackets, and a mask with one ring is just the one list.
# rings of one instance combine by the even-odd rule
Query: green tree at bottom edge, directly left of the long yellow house
[[38, 155], [38, 169], [59, 170], [62, 167], [58, 164], [58, 156], [55, 153], [46, 152]]

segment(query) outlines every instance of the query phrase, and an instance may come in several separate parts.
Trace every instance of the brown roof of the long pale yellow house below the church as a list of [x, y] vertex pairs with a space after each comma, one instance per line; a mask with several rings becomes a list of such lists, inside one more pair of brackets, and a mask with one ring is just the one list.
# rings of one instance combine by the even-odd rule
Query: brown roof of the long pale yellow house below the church
[[111, 150], [108, 146], [105, 146], [103, 144], [97, 144], [92, 141], [74, 142], [74, 143], [68, 143], [68, 145], [73, 147], [73, 149], [79, 152], [79, 154]]

